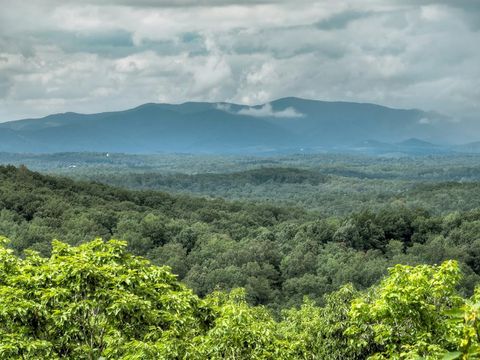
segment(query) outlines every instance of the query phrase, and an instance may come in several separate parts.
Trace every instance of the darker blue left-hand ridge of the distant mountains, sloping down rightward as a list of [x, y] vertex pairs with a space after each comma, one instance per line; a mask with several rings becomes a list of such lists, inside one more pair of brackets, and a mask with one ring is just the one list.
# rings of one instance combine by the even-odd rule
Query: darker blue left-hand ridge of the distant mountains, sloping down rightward
[[[259, 146], [279, 147], [294, 138], [265, 120], [240, 117], [214, 107], [201, 110], [179, 112], [148, 104], [103, 116], [62, 114], [54, 125], [49, 125], [51, 119], [44, 118], [38, 123], [24, 123], [20, 130], [11, 129], [17, 126], [13, 122], [0, 128], [0, 133], [22, 134], [28, 143], [42, 144], [37, 150], [27, 147], [34, 152], [235, 152]], [[61, 121], [63, 124], [59, 124]], [[7, 151], [5, 144], [0, 148]]]

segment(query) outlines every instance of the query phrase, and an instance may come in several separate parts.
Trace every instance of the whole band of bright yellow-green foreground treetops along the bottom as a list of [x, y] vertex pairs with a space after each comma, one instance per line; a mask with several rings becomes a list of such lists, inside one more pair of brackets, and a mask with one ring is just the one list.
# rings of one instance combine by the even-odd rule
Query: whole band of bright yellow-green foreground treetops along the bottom
[[[5, 239], [1, 239], [6, 242]], [[3, 359], [475, 359], [480, 296], [454, 261], [397, 265], [277, 319], [240, 290], [200, 299], [164, 267], [95, 240], [20, 259], [0, 246]]]

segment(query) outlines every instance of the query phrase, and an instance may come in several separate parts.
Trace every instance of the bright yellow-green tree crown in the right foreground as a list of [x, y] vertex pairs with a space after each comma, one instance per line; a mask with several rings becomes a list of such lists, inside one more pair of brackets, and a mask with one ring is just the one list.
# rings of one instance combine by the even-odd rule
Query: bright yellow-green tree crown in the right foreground
[[462, 303], [455, 261], [396, 265], [380, 285], [352, 302], [352, 344], [372, 359], [437, 359], [454, 347], [458, 327], [448, 311]]

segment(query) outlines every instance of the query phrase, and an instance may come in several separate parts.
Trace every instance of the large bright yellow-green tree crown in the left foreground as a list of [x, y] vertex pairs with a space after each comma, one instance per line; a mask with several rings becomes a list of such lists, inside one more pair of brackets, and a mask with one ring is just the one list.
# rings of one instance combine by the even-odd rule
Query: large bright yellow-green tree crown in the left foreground
[[0, 358], [185, 358], [208, 308], [125, 247], [56, 241], [24, 259], [0, 247]]

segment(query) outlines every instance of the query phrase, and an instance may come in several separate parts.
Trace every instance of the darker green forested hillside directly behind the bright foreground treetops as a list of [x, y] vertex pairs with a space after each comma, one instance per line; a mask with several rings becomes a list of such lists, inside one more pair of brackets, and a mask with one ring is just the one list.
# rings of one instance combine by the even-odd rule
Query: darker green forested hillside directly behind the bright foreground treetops
[[[468, 202], [465, 195], [462, 201]], [[169, 265], [196, 294], [244, 287], [250, 304], [298, 305], [346, 283], [375, 284], [395, 264], [456, 259], [460, 291], [479, 281], [480, 209], [442, 215], [393, 201], [326, 217], [294, 207], [132, 191], [0, 168], [0, 233], [21, 254], [47, 256], [52, 239], [100, 236]]]

